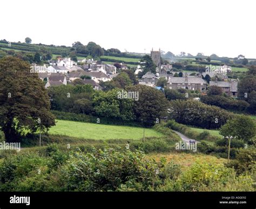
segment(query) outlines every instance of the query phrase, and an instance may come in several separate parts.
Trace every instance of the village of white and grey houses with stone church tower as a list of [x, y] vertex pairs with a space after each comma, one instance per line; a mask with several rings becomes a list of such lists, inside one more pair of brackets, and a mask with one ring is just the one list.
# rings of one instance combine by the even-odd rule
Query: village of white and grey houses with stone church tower
[[[159, 90], [163, 87], [157, 86], [159, 78], [165, 78], [167, 89], [187, 89], [192, 91], [199, 91], [206, 93], [206, 86], [219, 86], [229, 96], [237, 97], [239, 79], [227, 78], [227, 73], [232, 72], [232, 67], [228, 65], [206, 67], [205, 72], [181, 72], [172, 71], [172, 64], [161, 64], [160, 49], [159, 51], [151, 51], [151, 58], [157, 66], [156, 73], [146, 72], [145, 75], [139, 79], [139, 84], [155, 87]], [[113, 63], [114, 64], [114, 63]], [[113, 64], [106, 64], [104, 62], [97, 62], [93, 59], [79, 59], [78, 62], [71, 60], [71, 58], [59, 58], [58, 60], [49, 60], [46, 65], [31, 65], [31, 72], [38, 73], [39, 78], [44, 80], [45, 87], [67, 85], [76, 79], [83, 77], [83, 84], [89, 84], [95, 90], [102, 90], [100, 82], [107, 82], [116, 77], [117, 67]], [[139, 63], [140, 64], [140, 63]], [[143, 63], [142, 63], [143, 64]], [[140, 64], [141, 65], [141, 64]], [[138, 75], [142, 72], [140, 65], [134, 72]], [[128, 66], [121, 63], [120, 70], [127, 70]], [[202, 77], [210, 77], [211, 80], [207, 84]]]

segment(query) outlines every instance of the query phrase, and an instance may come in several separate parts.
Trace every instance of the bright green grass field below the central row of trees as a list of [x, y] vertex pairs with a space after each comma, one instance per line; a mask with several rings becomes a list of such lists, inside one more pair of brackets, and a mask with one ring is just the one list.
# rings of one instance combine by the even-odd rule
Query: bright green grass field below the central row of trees
[[[143, 128], [130, 126], [102, 125], [92, 123], [57, 120], [56, 126], [49, 133], [85, 139], [141, 139]], [[145, 129], [145, 137], [161, 137], [163, 134]]]

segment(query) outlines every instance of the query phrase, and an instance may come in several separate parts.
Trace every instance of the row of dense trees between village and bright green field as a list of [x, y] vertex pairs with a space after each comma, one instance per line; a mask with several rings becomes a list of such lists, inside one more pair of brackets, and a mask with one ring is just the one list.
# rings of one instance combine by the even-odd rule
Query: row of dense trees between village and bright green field
[[[136, 93], [137, 97], [122, 98], [122, 91]], [[163, 119], [168, 108], [163, 92], [144, 85], [109, 91], [94, 91], [90, 85], [62, 85], [50, 87], [49, 96], [53, 99], [52, 110], [89, 114], [107, 118], [110, 122], [136, 122], [144, 126], [152, 126]]]

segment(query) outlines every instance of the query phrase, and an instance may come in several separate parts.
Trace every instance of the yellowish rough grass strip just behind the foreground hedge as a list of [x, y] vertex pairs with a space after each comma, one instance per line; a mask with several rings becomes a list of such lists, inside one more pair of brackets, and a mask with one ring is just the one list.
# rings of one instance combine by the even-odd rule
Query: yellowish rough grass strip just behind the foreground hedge
[[173, 163], [180, 164], [185, 168], [187, 166], [191, 166], [195, 161], [199, 160], [201, 162], [205, 162], [208, 164], [223, 164], [227, 163], [227, 159], [224, 158], [217, 158], [215, 156], [210, 156], [206, 154], [190, 154], [190, 153], [150, 153], [147, 154], [148, 157], [159, 161], [161, 158], [166, 158], [167, 162], [171, 160]]

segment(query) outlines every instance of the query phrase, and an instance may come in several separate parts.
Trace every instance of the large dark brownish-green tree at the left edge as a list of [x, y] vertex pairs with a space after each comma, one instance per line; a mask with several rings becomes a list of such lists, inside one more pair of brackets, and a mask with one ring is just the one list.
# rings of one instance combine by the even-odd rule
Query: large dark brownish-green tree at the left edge
[[0, 126], [8, 142], [55, 125], [44, 83], [30, 65], [15, 57], [0, 60]]

